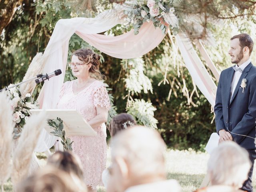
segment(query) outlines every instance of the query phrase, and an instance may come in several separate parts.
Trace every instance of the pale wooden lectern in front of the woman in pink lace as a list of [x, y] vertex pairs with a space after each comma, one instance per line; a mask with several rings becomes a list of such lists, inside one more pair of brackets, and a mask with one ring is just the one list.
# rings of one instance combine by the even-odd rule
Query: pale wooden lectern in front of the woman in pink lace
[[[32, 109], [31, 114], [38, 114], [42, 109]], [[46, 109], [46, 116], [48, 119], [61, 118], [64, 125], [66, 136], [96, 136], [97, 132], [84, 120], [81, 114], [75, 109]], [[49, 134], [54, 131], [50, 126], [44, 128]], [[61, 142], [60, 150], [63, 149]]]

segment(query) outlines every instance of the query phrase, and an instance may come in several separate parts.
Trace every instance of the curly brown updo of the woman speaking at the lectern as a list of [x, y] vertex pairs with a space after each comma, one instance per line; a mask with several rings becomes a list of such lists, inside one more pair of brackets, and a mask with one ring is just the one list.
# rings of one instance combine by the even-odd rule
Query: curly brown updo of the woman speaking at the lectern
[[72, 56], [73, 55], [77, 56], [80, 61], [84, 62], [84, 64], [92, 64], [89, 72], [94, 78], [97, 80], [106, 79], [106, 76], [102, 75], [100, 72], [100, 56], [98, 54], [94, 53], [90, 49], [78, 49], [72, 54]]

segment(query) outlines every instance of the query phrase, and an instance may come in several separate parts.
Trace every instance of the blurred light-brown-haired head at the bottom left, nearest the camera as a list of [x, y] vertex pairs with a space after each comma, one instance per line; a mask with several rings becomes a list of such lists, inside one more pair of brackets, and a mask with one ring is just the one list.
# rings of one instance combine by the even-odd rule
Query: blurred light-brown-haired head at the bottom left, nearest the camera
[[87, 187], [76, 176], [46, 166], [22, 181], [17, 192], [87, 192]]

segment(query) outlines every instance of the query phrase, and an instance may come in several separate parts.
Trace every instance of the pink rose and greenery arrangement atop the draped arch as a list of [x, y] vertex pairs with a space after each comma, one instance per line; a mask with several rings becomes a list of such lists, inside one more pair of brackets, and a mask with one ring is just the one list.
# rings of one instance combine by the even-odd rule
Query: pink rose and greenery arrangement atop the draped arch
[[124, 20], [127, 22], [126, 28], [132, 26], [134, 34], [139, 33], [139, 29], [144, 22], [152, 21], [155, 27], [159, 27], [163, 33], [166, 33], [167, 27], [171, 32], [178, 34], [178, 18], [174, 15], [172, 0], [148, 0], [137, 1], [130, 10], [124, 10], [127, 16]]

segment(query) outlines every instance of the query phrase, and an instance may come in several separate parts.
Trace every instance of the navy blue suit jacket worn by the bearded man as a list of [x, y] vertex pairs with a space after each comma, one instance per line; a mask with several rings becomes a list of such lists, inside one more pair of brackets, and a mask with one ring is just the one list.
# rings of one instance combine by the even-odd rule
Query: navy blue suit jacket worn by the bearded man
[[[214, 106], [216, 130], [230, 130], [236, 143], [246, 149], [255, 149], [254, 139], [236, 134], [256, 136], [256, 67], [252, 63], [246, 66], [230, 101], [234, 72], [230, 67], [220, 74]], [[243, 78], [247, 80], [244, 93], [240, 87]]]

